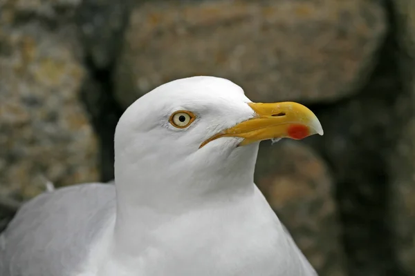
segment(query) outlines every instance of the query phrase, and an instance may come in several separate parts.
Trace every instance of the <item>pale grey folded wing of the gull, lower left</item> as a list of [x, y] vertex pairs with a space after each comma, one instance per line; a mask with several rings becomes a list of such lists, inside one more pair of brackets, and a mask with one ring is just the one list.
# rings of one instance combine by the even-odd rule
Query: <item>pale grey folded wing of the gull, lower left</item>
[[0, 235], [1, 276], [66, 276], [115, 211], [115, 187], [82, 184], [24, 204]]

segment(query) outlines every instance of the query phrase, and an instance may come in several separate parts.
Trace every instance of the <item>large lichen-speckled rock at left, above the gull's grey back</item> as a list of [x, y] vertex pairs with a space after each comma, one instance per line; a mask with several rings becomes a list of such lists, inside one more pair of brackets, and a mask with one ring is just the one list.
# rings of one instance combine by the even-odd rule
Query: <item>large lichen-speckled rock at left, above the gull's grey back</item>
[[80, 1], [0, 3], [0, 196], [29, 199], [97, 181], [97, 145], [79, 100], [86, 70], [73, 14]]

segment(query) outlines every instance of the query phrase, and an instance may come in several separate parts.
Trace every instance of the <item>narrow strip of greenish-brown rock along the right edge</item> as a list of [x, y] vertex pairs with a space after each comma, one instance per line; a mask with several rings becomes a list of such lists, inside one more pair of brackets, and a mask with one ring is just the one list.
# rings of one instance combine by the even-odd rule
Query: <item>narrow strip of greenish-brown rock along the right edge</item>
[[415, 275], [415, 2], [396, 0], [400, 72], [404, 91], [394, 105], [399, 132], [391, 152], [391, 217], [396, 252], [408, 275]]

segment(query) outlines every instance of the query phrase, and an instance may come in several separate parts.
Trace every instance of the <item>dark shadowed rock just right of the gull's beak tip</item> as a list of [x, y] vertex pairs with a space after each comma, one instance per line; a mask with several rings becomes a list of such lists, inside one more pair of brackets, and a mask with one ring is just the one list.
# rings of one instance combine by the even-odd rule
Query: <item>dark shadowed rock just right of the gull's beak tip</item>
[[389, 166], [396, 162], [389, 153], [396, 146], [402, 120], [394, 106], [403, 93], [396, 31], [391, 27], [365, 86], [351, 99], [311, 107], [324, 136], [311, 137], [308, 143], [333, 171], [347, 268], [353, 276], [406, 275], [400, 273], [396, 257], [389, 205], [393, 187]]

